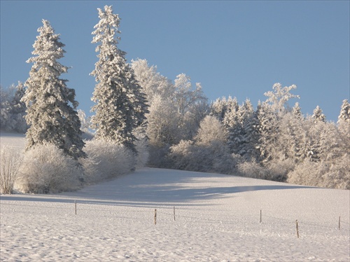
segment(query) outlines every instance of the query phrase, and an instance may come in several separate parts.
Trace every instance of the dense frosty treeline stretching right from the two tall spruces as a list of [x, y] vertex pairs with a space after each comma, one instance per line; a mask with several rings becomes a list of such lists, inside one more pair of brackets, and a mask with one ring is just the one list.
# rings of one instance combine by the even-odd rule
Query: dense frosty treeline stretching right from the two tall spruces
[[235, 97], [208, 104], [184, 74], [172, 84], [146, 60], [132, 67], [150, 102], [148, 165], [350, 189], [348, 100], [332, 123], [319, 106], [311, 116], [288, 106], [295, 85], [274, 84], [256, 109]]

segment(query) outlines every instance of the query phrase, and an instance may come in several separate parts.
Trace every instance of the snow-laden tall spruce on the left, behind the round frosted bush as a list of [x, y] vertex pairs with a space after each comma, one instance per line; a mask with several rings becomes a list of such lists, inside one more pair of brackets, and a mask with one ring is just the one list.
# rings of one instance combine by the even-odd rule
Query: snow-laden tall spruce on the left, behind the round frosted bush
[[76, 93], [66, 87], [67, 80], [59, 78], [68, 69], [57, 62], [64, 57], [64, 44], [59, 41], [59, 34], [55, 34], [50, 22], [42, 22], [43, 27], [38, 28], [39, 35], [33, 45], [32, 54], [36, 56], [27, 60], [33, 66], [22, 97], [27, 106], [25, 119], [29, 125], [27, 149], [36, 144], [55, 144], [68, 156], [75, 159], [85, 157], [76, 112]]

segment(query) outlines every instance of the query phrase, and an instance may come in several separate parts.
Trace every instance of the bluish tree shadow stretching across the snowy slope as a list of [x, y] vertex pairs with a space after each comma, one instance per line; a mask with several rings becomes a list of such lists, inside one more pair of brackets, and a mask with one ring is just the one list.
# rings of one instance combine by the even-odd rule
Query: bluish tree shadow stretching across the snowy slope
[[[74, 202], [96, 205], [198, 205], [197, 200], [232, 198], [235, 194], [247, 191], [271, 191], [297, 188], [312, 188], [283, 184], [274, 181], [262, 181], [251, 186], [200, 186], [199, 178], [215, 177], [220, 182], [224, 174], [185, 172], [179, 170], [161, 170], [149, 168], [137, 170], [132, 174], [101, 184], [87, 186], [80, 191], [48, 195], [1, 195], [1, 200]], [[240, 177], [236, 177], [241, 179]], [[235, 177], [232, 177], [235, 179]], [[196, 187], [190, 184], [195, 180]], [[263, 183], [263, 184], [261, 184]], [[215, 184], [215, 183], [214, 183]], [[206, 184], [207, 185], [207, 184]]]

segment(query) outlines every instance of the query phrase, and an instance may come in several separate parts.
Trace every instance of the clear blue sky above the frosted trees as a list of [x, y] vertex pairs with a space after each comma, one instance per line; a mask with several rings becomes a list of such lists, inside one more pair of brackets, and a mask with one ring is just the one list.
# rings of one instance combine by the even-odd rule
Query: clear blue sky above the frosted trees
[[[113, 5], [120, 22], [119, 48], [127, 60], [155, 64], [163, 76], [200, 82], [209, 101], [246, 98], [253, 105], [274, 83], [297, 85], [302, 113], [321, 106], [337, 120], [349, 99], [350, 1], [3, 1], [0, 83], [26, 81], [32, 45], [49, 20], [66, 55], [62, 78], [90, 114], [97, 62], [91, 43], [97, 8]], [[296, 102], [291, 102], [291, 106]]]

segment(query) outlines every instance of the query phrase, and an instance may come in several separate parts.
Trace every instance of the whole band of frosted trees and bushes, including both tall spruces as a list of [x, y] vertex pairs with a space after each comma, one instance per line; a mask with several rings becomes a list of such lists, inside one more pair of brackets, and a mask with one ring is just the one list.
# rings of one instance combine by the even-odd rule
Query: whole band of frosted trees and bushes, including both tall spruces
[[[92, 118], [76, 110], [75, 91], [60, 78], [68, 69], [57, 62], [64, 44], [47, 20], [38, 29], [36, 56], [27, 61], [33, 63], [28, 80], [1, 89], [1, 128], [27, 130], [22, 191], [73, 190], [143, 163], [350, 188], [347, 100], [337, 123], [327, 122], [318, 106], [312, 116], [304, 116], [298, 103], [290, 108], [288, 101], [298, 98], [295, 85], [274, 84], [256, 109], [235, 97], [209, 104], [200, 83], [186, 74], [173, 82], [146, 60], [128, 64], [118, 49], [118, 15], [111, 6], [98, 11]], [[83, 139], [84, 132], [93, 133], [92, 141]]]

